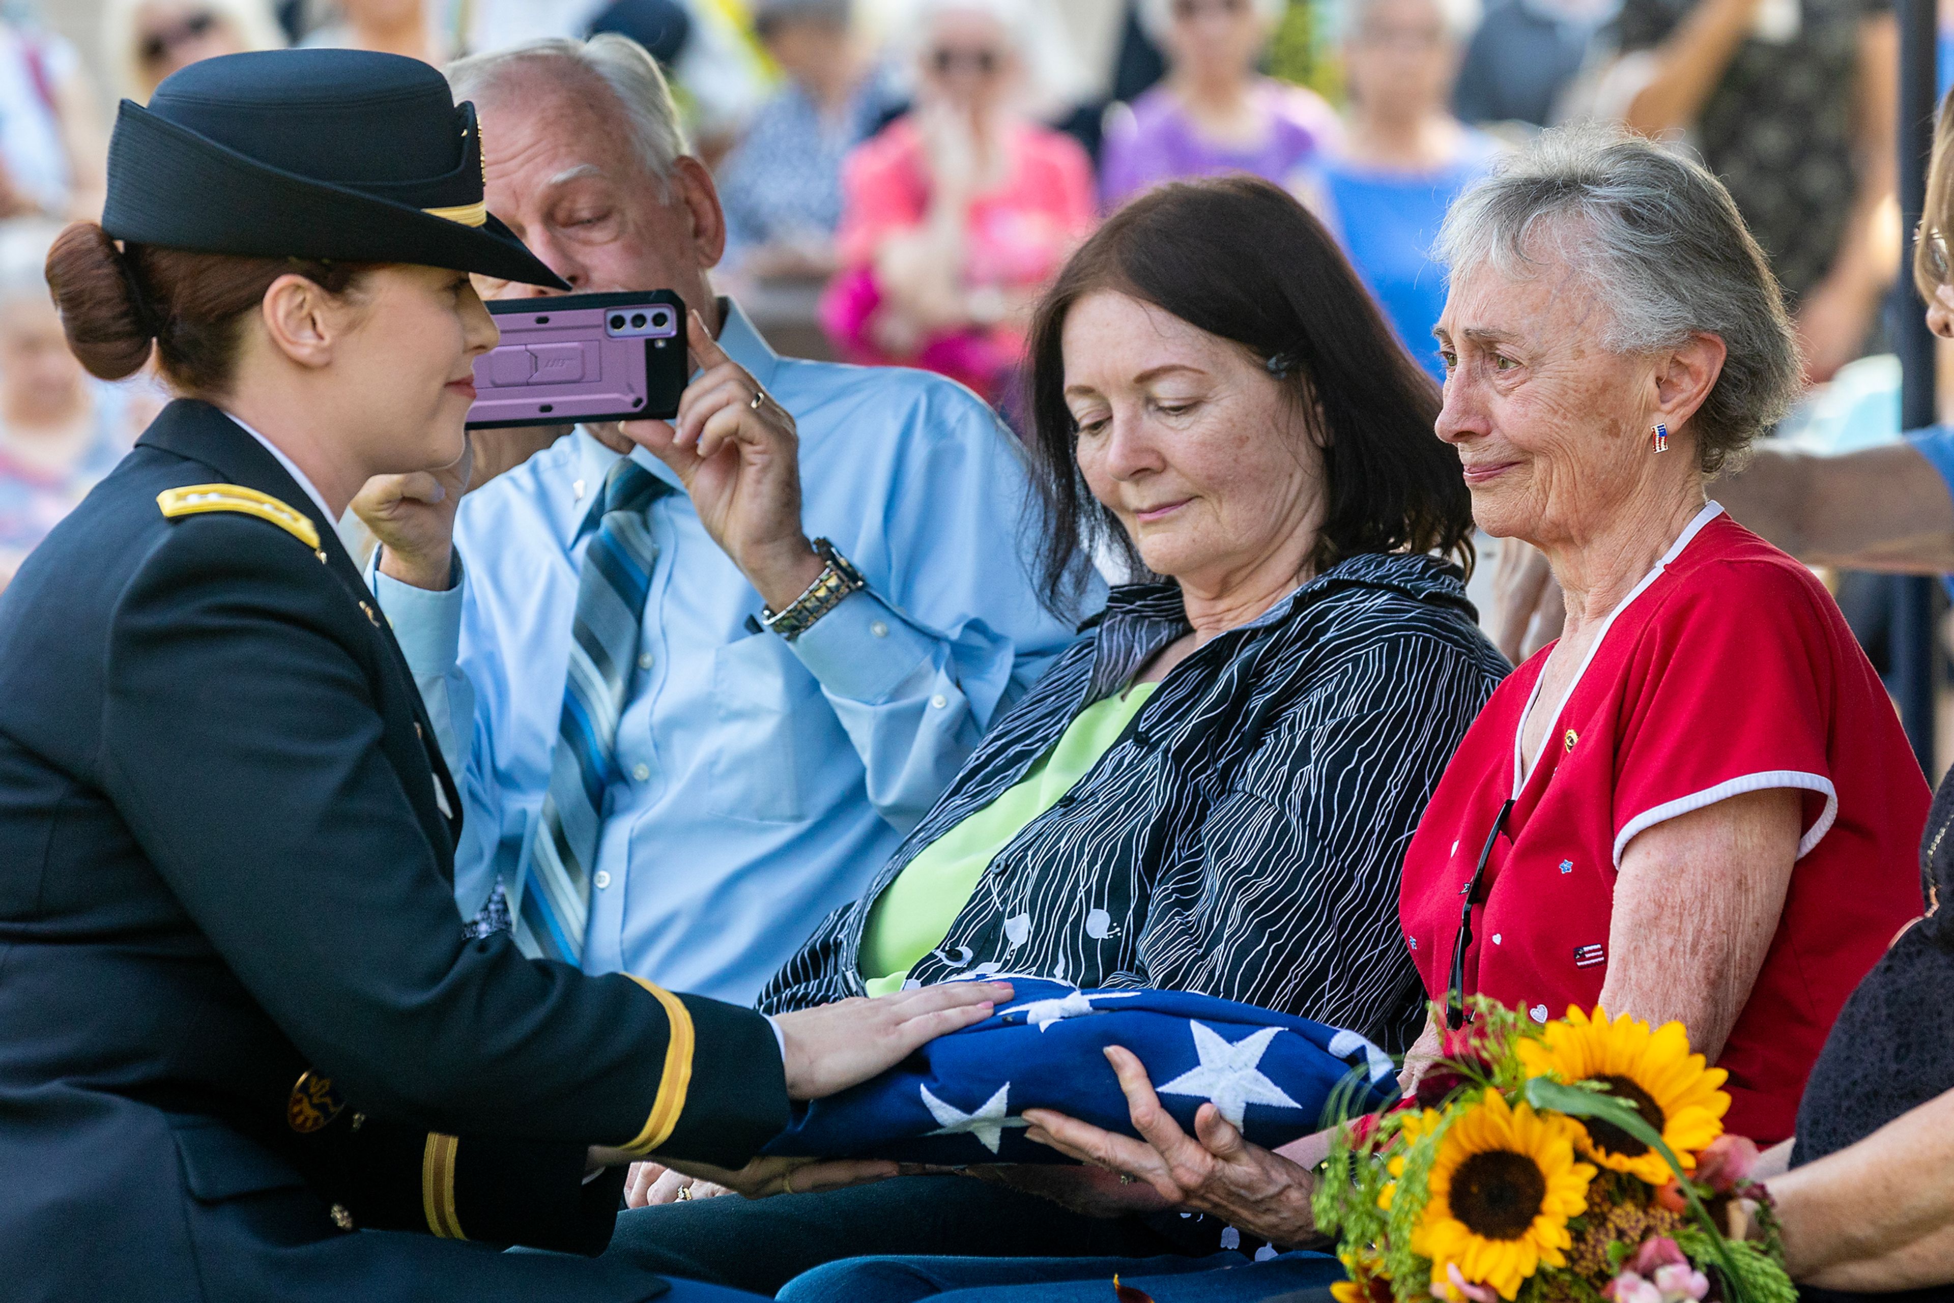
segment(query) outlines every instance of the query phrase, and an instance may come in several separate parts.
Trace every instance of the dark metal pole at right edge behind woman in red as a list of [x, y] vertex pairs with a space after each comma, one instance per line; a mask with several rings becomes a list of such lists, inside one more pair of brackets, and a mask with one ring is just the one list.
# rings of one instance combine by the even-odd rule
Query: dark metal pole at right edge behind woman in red
[[[1913, 293], [1913, 234], [1927, 197], [1927, 158], [1934, 143], [1934, 0], [1899, 2], [1899, 209], [1905, 262], [1893, 285], [1893, 346], [1899, 352], [1899, 426], [1934, 424], [1934, 336]], [[1878, 510], [1876, 504], [1866, 504]], [[1899, 721], [1929, 779], [1934, 778], [1934, 580], [1893, 580], [1893, 688]]]

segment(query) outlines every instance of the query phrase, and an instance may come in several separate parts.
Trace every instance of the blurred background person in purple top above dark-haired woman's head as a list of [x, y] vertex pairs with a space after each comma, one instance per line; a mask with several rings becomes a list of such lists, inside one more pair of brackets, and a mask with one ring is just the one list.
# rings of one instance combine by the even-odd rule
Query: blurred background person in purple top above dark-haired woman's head
[[1190, 176], [1253, 172], [1286, 186], [1340, 135], [1321, 96], [1256, 68], [1282, 8], [1282, 0], [1141, 0], [1168, 70], [1106, 125], [1108, 211]]

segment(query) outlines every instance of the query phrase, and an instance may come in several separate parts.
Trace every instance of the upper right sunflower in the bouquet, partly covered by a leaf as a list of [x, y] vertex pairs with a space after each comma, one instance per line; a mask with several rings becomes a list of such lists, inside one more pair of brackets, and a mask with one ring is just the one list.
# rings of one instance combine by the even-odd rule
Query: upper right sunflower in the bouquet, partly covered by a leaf
[[[1718, 1086], [1729, 1072], [1704, 1067], [1704, 1057], [1690, 1053], [1680, 1022], [1649, 1031], [1649, 1024], [1628, 1014], [1610, 1022], [1596, 1008], [1591, 1020], [1571, 1008], [1567, 1022], [1546, 1026], [1544, 1041], [1520, 1039], [1520, 1065], [1528, 1076], [1551, 1074], [1569, 1086], [1600, 1082], [1608, 1094], [1632, 1104], [1686, 1168], [1696, 1166], [1696, 1151], [1723, 1133], [1729, 1096]], [[1604, 1168], [1651, 1186], [1669, 1182], [1669, 1162], [1659, 1153], [1606, 1121], [1589, 1117], [1579, 1147]]]

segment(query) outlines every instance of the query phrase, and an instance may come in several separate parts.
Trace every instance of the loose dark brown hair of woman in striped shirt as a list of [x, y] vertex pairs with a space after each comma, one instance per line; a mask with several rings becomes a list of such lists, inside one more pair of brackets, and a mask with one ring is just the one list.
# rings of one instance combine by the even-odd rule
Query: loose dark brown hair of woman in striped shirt
[[1317, 574], [1360, 553], [1440, 553], [1471, 568], [1471, 498], [1438, 441], [1438, 387], [1411, 359], [1337, 242], [1288, 191], [1256, 178], [1163, 186], [1114, 213], [1051, 285], [1030, 338], [1034, 477], [1043, 500], [1040, 570], [1063, 609], [1108, 539], [1145, 567], [1120, 522], [1086, 490], [1065, 406], [1065, 315], [1100, 289], [1131, 295], [1280, 359], [1305, 428], [1323, 447]]

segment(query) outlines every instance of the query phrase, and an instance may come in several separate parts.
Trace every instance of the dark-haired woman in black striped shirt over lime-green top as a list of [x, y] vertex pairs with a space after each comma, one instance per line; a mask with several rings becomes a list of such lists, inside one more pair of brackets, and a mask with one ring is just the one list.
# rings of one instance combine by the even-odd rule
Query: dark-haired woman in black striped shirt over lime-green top
[[[1114, 590], [762, 1008], [1010, 971], [1198, 990], [1403, 1049], [1423, 994], [1397, 865], [1507, 668], [1446, 561], [1469, 522], [1436, 412], [1282, 189], [1168, 186], [1114, 215], [1036, 318], [1032, 453], [1045, 580], [1063, 590], [1098, 545], [1149, 578]], [[1161, 1207], [1077, 1170], [1012, 1180]], [[1219, 1235], [920, 1176], [651, 1207], [612, 1252], [774, 1291], [848, 1254], [1210, 1254]]]

